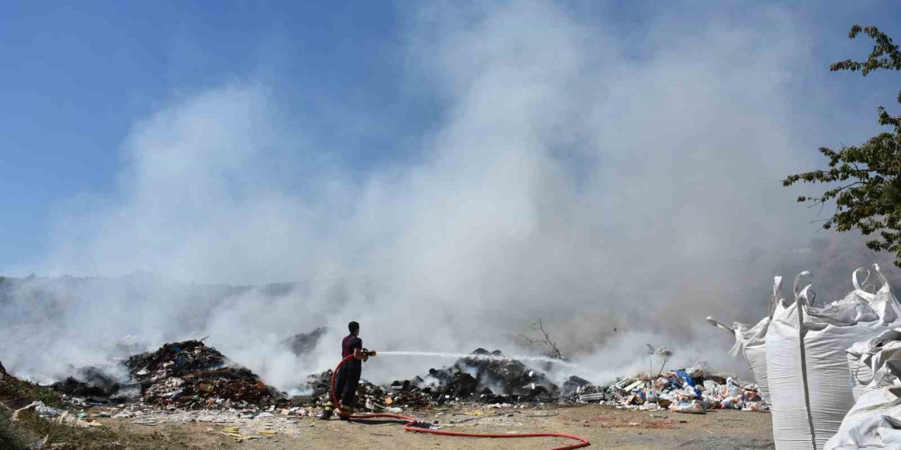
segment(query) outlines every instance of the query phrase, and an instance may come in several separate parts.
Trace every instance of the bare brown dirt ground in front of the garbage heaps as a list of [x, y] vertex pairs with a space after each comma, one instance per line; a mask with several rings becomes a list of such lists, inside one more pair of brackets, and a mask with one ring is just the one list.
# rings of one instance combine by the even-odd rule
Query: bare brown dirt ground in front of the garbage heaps
[[[477, 415], [473, 415], [477, 414]], [[478, 415], [480, 414], [480, 415]], [[526, 417], [525, 414], [551, 415]], [[773, 448], [769, 413], [718, 410], [706, 414], [669, 411], [617, 410], [612, 407], [574, 406], [542, 410], [479, 410], [454, 408], [411, 414], [423, 420], [437, 419], [441, 429], [470, 433], [565, 432], [587, 437], [595, 448], [619, 449], [769, 449]], [[478, 419], [474, 419], [478, 418]], [[452, 424], [451, 420], [465, 423]], [[236, 442], [222, 434], [231, 424], [194, 422], [133, 424], [130, 419], [100, 419], [107, 427], [147, 435], [166, 442], [169, 450], [242, 449], [329, 449], [376, 450], [390, 448], [434, 449], [548, 449], [575, 441], [561, 438], [483, 439], [440, 437], [408, 433], [397, 423], [360, 424], [337, 419], [328, 421], [297, 418], [292, 428], [275, 435], [259, 433], [255, 422], [241, 424], [242, 435], [262, 436]], [[163, 447], [167, 448], [167, 447]]]

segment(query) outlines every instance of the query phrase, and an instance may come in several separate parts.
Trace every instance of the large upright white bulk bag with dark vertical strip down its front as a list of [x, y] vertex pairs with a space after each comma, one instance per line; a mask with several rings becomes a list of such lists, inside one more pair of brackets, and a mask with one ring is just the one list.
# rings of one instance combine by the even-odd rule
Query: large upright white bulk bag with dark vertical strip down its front
[[877, 301], [858, 286], [842, 300], [812, 306], [811, 285], [798, 291], [804, 275], [810, 274], [803, 272], [795, 279], [795, 302], [777, 306], [766, 335], [773, 439], [778, 450], [824, 447], [854, 404], [845, 350], [878, 336], [896, 325], [899, 317], [896, 302]]

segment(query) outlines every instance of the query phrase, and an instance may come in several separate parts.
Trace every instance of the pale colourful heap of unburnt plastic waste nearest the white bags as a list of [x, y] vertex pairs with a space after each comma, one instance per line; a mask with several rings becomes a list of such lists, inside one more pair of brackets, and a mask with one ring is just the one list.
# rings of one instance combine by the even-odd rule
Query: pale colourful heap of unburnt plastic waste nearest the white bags
[[569, 401], [597, 401], [632, 410], [663, 410], [702, 413], [705, 410], [769, 410], [760, 396], [760, 388], [732, 376], [707, 374], [704, 369], [688, 367], [661, 373], [623, 378], [608, 386], [583, 384], [569, 394]]

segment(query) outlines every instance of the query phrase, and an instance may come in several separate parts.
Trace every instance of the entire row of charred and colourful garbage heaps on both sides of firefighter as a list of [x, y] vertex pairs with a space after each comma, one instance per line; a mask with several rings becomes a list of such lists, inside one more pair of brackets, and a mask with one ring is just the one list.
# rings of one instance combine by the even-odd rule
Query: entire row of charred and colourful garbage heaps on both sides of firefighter
[[[308, 353], [323, 329], [297, 335], [298, 353]], [[298, 338], [300, 337], [300, 338]], [[555, 363], [538, 368], [504, 356], [499, 350], [478, 348], [452, 365], [432, 368], [408, 380], [378, 385], [360, 382], [359, 410], [428, 409], [454, 403], [513, 406], [525, 403], [597, 402], [620, 408], [680, 412], [736, 408], [766, 410], [756, 385], [728, 376], [688, 368], [632, 378], [610, 385], [594, 385], [570, 376], [558, 385], [547, 372]], [[201, 340], [173, 342], [157, 350], [124, 359], [123, 376], [84, 367], [50, 387], [79, 407], [141, 404], [168, 410], [295, 410], [327, 402], [332, 371], [311, 374], [307, 394], [288, 396], [264, 383], [250, 369], [230, 361]], [[0, 374], [4, 371], [0, 367]]]

